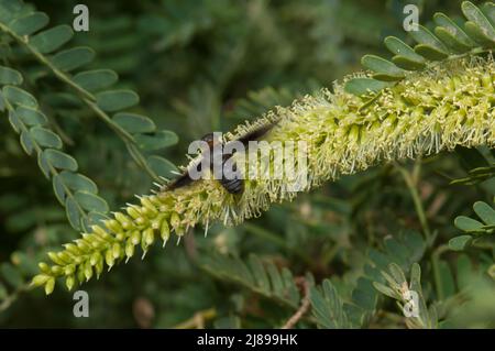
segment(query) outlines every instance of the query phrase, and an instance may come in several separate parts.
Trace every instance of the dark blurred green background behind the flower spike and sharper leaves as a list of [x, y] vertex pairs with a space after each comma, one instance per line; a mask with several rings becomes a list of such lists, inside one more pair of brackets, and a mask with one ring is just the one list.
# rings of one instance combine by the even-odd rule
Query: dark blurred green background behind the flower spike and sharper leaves
[[[33, 3], [51, 17], [52, 24], [70, 24], [73, 7], [79, 2]], [[158, 154], [179, 165], [186, 162], [190, 141], [213, 130], [227, 131], [276, 105], [287, 106], [306, 94], [331, 87], [336, 79], [361, 69], [362, 55], [383, 54], [386, 35], [405, 36], [405, 3], [416, 3], [420, 21], [428, 24], [437, 11], [459, 15], [461, 1], [85, 3], [90, 30], [76, 33], [75, 44], [92, 47], [97, 52], [94, 67], [114, 69], [120, 86], [140, 94], [136, 112], [146, 113], [161, 129], [178, 135], [176, 145]], [[67, 152], [96, 182], [110, 208], [133, 201], [134, 194], [148, 194], [152, 179], [91, 111], [52, 109], [43, 102], [64, 89], [50, 79], [33, 86], [42, 108], [63, 135]], [[279, 327], [293, 311], [216, 277], [201, 262], [216, 253], [241, 259], [255, 253], [295, 275], [311, 272], [317, 282], [331, 277], [350, 300], [367, 250], [381, 250], [383, 240], [391, 235], [420, 230], [400, 172], [395, 165], [384, 165], [300, 194], [295, 202], [275, 206], [238, 228], [215, 226], [207, 238], [197, 228], [195, 235], [187, 235], [179, 245], [169, 243], [165, 250], [156, 245], [144, 261], [134, 257], [84, 285], [90, 296], [90, 316], [75, 318], [73, 294], [64, 288], [50, 297], [42, 290], [22, 290], [36, 273], [36, 263], [46, 260], [45, 253], [78, 233], [67, 223], [51, 184], [41, 175], [36, 161], [22, 151], [4, 116], [0, 118], [0, 133], [1, 327], [170, 328], [187, 325], [198, 312], [206, 327]], [[493, 182], [476, 187], [450, 186], [450, 178], [462, 177], [470, 169], [460, 154], [441, 154], [420, 163], [420, 196], [440, 246], [459, 234], [454, 217], [469, 215], [476, 200], [493, 199], [494, 186]], [[411, 162], [403, 166], [419, 167]], [[442, 298], [431, 292], [429, 255], [421, 262], [425, 289], [431, 299], [444, 303], [443, 317], [454, 316], [449, 326], [495, 326], [493, 284], [479, 282], [479, 296], [471, 305], [461, 304], [464, 295], [459, 293], [460, 276], [485, 272], [493, 263], [493, 251], [444, 253], [446, 275], [441, 279], [448, 290]], [[370, 327], [403, 327], [397, 312], [386, 300]]]

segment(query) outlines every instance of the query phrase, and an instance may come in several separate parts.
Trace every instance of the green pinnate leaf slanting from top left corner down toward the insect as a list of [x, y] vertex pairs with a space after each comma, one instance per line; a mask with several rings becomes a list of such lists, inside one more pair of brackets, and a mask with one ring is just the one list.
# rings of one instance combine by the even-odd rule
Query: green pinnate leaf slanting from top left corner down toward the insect
[[[13, 3], [16, 1], [14, 0]], [[128, 124], [128, 130], [121, 128], [113, 120], [117, 114], [111, 117], [107, 112], [118, 112], [138, 105], [139, 96], [129, 89], [109, 90], [108, 88], [117, 83], [117, 74], [112, 70], [86, 70], [79, 72], [73, 77], [69, 72], [89, 64], [95, 57], [95, 52], [89, 47], [73, 47], [56, 52], [74, 36], [70, 26], [65, 24], [56, 25], [41, 31], [48, 23], [46, 14], [43, 12], [30, 12], [31, 9], [21, 2], [15, 6], [9, 2], [9, 7], [13, 7], [15, 10], [9, 14], [8, 20], [0, 21], [0, 29], [28, 50], [31, 55], [45, 66], [45, 69], [51, 72], [62, 83], [68, 85], [81, 102], [123, 140], [134, 161], [154, 180], [160, 182], [160, 176], [166, 176], [167, 174], [157, 174], [155, 171], [163, 171], [164, 167], [168, 167], [169, 162], [163, 157], [158, 158], [155, 156], [152, 165], [156, 169], [153, 169], [142, 154], [141, 149], [154, 151], [173, 145], [177, 142], [176, 135], [170, 131], [162, 132], [155, 129], [145, 132], [150, 135], [144, 135], [140, 129], [129, 130], [129, 127], [132, 128], [135, 124]], [[2, 7], [2, 3], [0, 3], [0, 9], [9, 11], [6, 4]], [[47, 54], [52, 55], [47, 56]], [[147, 120], [148, 125], [154, 125], [147, 117], [142, 116], [141, 118]], [[147, 142], [143, 143], [143, 139], [147, 140]], [[150, 146], [150, 144], [153, 146]]]

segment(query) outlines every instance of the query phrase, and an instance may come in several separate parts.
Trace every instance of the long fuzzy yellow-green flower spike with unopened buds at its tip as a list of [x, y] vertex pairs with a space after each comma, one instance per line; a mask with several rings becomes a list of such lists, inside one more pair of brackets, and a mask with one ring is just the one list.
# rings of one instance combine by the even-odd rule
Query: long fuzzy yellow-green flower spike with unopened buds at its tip
[[[495, 64], [488, 57], [438, 63], [366, 97], [348, 94], [342, 85], [336, 85], [333, 92], [323, 90], [242, 124], [227, 139], [278, 121], [267, 141], [307, 144], [309, 177], [302, 190], [309, 190], [380, 162], [414, 158], [458, 145], [495, 146], [494, 80]], [[146, 252], [158, 238], [166, 242], [172, 233], [180, 237], [197, 224], [240, 223], [267, 210], [272, 202], [293, 199], [296, 193], [285, 191], [286, 183], [285, 178], [245, 180], [244, 193], [234, 196], [217, 182], [204, 179], [140, 197], [138, 205], [114, 213], [105, 228], [96, 226], [74, 244], [66, 244], [64, 251], [50, 253], [52, 267], [40, 264], [41, 274], [33, 284], [44, 286], [50, 294], [55, 278], [66, 277], [72, 288], [92, 277], [94, 266], [99, 275], [103, 260], [109, 268], [128, 260], [138, 244]]]

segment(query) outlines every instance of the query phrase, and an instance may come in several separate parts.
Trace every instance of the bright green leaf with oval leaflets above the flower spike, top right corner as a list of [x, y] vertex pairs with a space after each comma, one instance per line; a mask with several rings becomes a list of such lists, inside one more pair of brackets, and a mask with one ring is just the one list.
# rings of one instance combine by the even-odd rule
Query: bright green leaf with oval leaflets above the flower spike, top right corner
[[433, 32], [417, 24], [409, 31], [416, 42], [414, 47], [398, 37], [387, 36], [384, 43], [394, 54], [392, 62], [376, 55], [363, 56], [361, 63], [372, 72], [371, 78], [353, 78], [346, 83], [345, 90], [359, 96], [376, 92], [404, 79], [407, 72], [431, 67], [436, 62], [488, 52], [495, 44], [495, 4], [487, 2], [479, 8], [464, 1], [462, 12], [468, 19], [462, 26], [441, 12], [433, 17]]

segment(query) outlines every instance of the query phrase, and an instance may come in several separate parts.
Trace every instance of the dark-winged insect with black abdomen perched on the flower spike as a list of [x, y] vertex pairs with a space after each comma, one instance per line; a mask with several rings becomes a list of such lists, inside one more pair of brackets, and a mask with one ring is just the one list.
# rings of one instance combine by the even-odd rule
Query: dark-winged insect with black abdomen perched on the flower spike
[[[244, 191], [244, 180], [242, 179], [242, 175], [239, 172], [235, 163], [231, 160], [235, 151], [233, 152], [224, 152], [224, 150], [230, 150], [231, 143], [242, 143], [242, 145], [248, 146], [250, 141], [255, 141], [265, 135], [268, 131], [271, 131], [277, 121], [273, 121], [265, 125], [261, 125], [244, 135], [237, 138], [235, 140], [229, 141], [227, 143], [222, 143], [220, 140], [215, 138], [215, 133], [208, 133], [201, 138], [202, 141], [208, 145], [208, 152], [210, 160], [207, 162], [209, 164], [210, 171], [213, 172], [213, 168], [219, 167], [222, 169], [221, 177], [218, 178], [223, 188], [230, 194], [242, 194]], [[217, 153], [221, 152], [221, 155]], [[205, 158], [199, 160], [198, 167], [201, 166], [202, 161]], [[231, 163], [230, 167], [226, 167], [227, 163]], [[195, 182], [195, 179], [190, 176], [190, 169], [186, 169], [182, 175], [179, 175], [176, 179], [170, 182], [166, 186], [166, 190], [174, 190], [177, 188], [182, 188]], [[200, 171], [200, 169], [199, 169]]]

